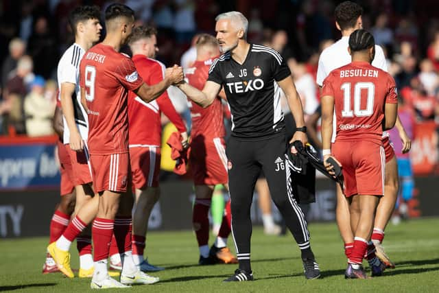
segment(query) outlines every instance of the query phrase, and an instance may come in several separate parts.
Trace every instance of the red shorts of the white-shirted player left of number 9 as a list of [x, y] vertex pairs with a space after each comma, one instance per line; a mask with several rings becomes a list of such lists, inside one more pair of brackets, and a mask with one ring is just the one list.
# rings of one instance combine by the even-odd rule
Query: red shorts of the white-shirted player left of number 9
[[66, 149], [69, 152], [71, 168], [73, 169], [73, 184], [75, 186], [91, 183], [91, 166], [90, 166], [90, 154], [88, 154], [88, 148], [84, 144], [84, 150], [82, 152], [75, 152], [70, 148], [69, 144], [66, 144]]

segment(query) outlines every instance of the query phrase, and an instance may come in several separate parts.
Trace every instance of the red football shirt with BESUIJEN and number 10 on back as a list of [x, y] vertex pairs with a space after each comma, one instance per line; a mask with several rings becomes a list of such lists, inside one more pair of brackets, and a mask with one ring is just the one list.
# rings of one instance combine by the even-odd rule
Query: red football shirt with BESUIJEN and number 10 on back
[[381, 143], [385, 103], [396, 104], [396, 85], [389, 73], [368, 62], [334, 69], [323, 82], [322, 97], [334, 97], [335, 141], [372, 139]]

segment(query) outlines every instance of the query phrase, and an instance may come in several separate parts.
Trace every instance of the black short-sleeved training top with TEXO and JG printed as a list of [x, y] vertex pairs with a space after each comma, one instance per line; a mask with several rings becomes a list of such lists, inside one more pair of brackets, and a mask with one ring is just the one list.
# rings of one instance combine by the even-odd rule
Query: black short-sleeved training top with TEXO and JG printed
[[213, 62], [208, 80], [224, 87], [233, 137], [254, 140], [283, 134], [281, 89], [276, 81], [290, 74], [281, 54], [262, 45], [250, 44], [243, 65], [233, 60], [230, 52]]

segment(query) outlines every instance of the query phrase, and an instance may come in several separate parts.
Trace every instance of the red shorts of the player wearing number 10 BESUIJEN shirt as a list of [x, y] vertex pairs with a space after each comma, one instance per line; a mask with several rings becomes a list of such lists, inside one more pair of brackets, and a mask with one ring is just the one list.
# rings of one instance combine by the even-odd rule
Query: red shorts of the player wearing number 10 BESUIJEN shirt
[[385, 154], [373, 141], [335, 141], [332, 154], [342, 163], [344, 194], [382, 196]]

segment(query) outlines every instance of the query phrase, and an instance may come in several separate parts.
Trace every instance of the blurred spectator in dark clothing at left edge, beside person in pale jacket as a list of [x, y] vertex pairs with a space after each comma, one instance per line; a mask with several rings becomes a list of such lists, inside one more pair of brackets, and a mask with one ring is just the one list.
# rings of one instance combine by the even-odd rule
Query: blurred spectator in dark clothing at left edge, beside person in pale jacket
[[27, 55], [21, 57], [13, 77], [6, 83], [2, 105], [3, 133], [25, 133], [23, 99], [27, 94], [27, 85], [34, 80], [33, 67], [32, 58]]

